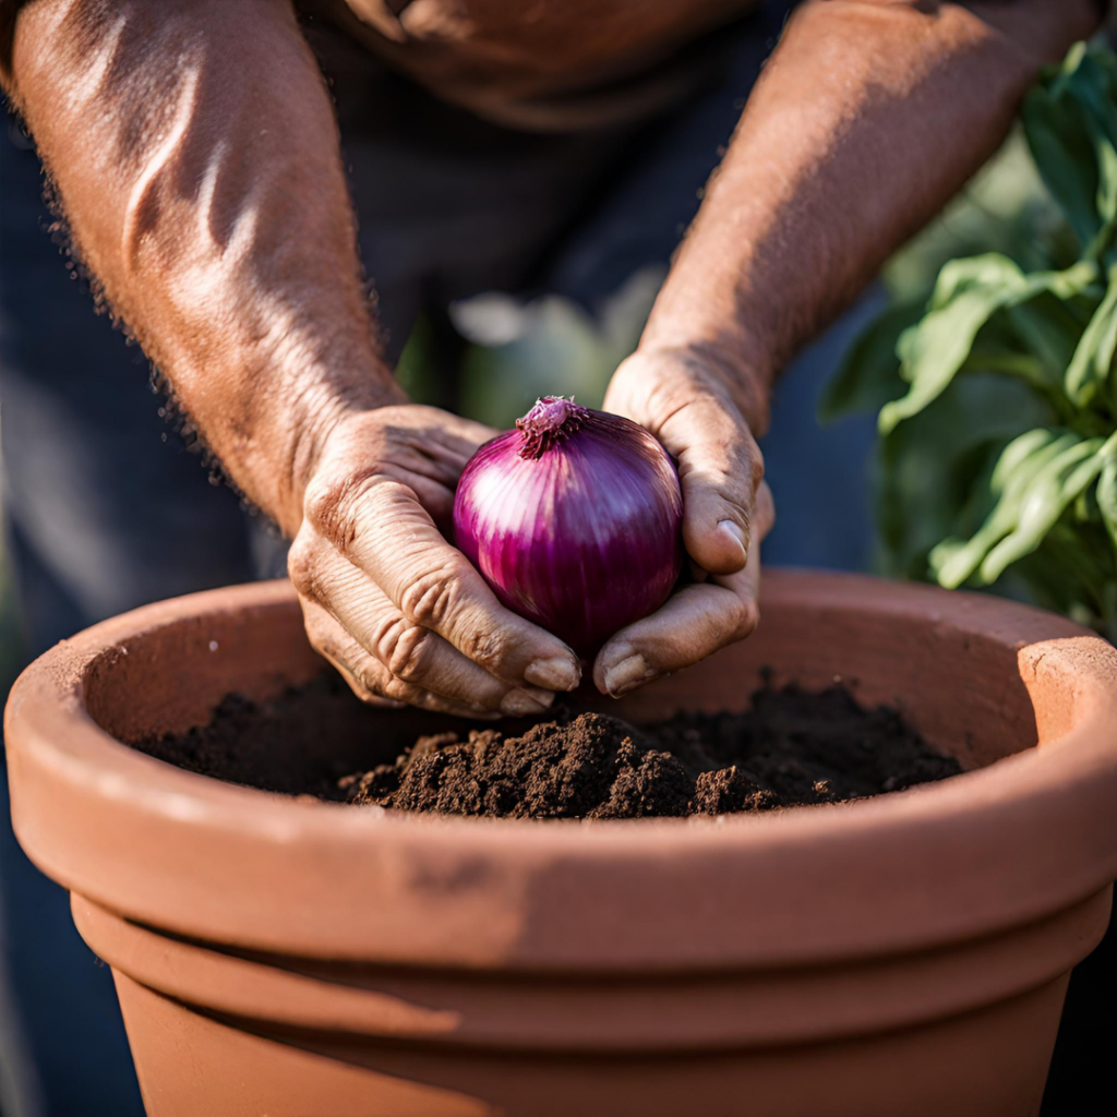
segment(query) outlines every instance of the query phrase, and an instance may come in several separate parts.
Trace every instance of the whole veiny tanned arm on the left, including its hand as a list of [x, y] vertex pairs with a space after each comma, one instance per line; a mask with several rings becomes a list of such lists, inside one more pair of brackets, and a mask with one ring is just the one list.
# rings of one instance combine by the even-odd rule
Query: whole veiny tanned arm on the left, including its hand
[[6, 26], [8, 88], [85, 264], [295, 536], [318, 650], [363, 698], [475, 716], [538, 713], [575, 686], [573, 653], [436, 527], [491, 432], [408, 405], [384, 366], [333, 107], [289, 0], [31, 0]]

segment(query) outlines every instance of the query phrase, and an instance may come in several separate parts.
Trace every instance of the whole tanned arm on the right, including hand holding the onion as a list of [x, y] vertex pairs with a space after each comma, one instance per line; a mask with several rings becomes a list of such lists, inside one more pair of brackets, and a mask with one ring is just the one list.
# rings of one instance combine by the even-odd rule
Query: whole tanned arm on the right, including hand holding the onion
[[746, 636], [772, 523], [753, 435], [772, 382], [1004, 139], [1097, 0], [809, 0], [754, 89], [640, 346], [605, 405], [679, 461], [685, 537], [713, 577], [602, 650], [620, 694]]

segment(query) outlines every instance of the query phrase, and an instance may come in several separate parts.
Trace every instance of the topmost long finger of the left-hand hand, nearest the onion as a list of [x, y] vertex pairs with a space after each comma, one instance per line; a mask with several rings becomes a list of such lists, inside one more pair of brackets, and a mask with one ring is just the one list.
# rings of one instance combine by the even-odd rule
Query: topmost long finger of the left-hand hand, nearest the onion
[[497, 601], [460, 551], [439, 534], [414, 493], [382, 476], [312, 493], [308, 518], [413, 624], [439, 633], [508, 682], [573, 690], [574, 653]]

